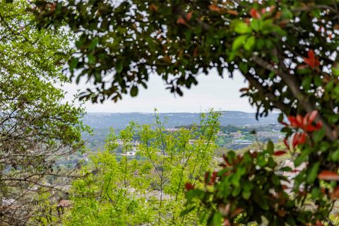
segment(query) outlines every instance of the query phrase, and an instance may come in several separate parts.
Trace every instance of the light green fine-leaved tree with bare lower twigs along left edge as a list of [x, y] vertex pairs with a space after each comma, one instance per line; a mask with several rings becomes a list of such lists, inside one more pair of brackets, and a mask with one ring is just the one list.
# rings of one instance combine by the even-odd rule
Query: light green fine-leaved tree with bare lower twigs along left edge
[[[9, 3], [8, 3], [9, 2]], [[0, 2], [0, 225], [50, 225], [53, 192], [69, 182], [58, 161], [83, 152], [84, 111], [54, 85], [69, 56], [64, 30], [37, 30], [28, 1]], [[52, 177], [63, 179], [57, 184]]]

